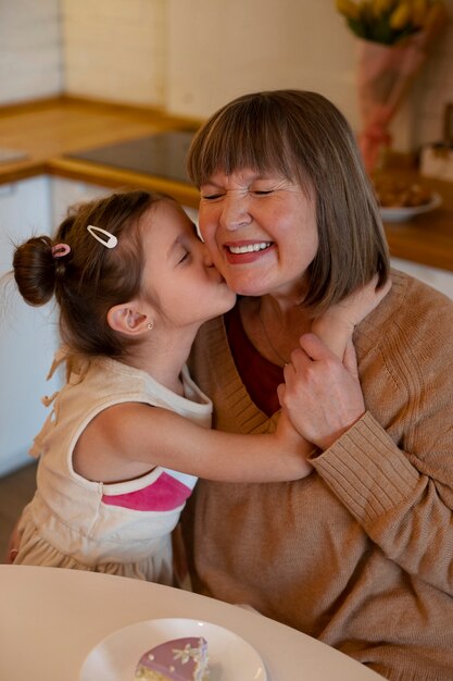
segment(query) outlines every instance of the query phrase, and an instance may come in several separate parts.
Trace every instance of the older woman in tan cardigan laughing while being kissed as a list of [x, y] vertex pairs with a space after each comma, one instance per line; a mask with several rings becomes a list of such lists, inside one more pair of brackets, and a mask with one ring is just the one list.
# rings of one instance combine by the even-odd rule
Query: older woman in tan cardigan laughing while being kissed
[[200, 129], [189, 170], [202, 236], [240, 294], [192, 357], [215, 425], [273, 430], [279, 392], [316, 446], [301, 481], [199, 483], [185, 518], [196, 590], [388, 679], [451, 680], [453, 304], [392, 272], [355, 332], [362, 388], [309, 333], [320, 311], [389, 276], [354, 137], [322, 96], [240, 97]]

